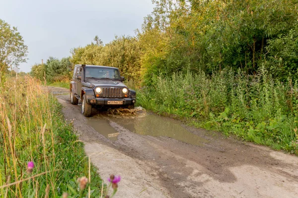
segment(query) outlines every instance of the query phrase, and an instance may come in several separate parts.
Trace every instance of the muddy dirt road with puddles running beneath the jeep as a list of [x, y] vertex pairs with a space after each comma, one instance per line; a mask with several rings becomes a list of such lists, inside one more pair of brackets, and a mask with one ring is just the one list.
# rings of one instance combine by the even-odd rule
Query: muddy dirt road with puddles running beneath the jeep
[[67, 89], [63, 105], [103, 179], [120, 174], [119, 198], [298, 198], [298, 157], [139, 112], [80, 114]]

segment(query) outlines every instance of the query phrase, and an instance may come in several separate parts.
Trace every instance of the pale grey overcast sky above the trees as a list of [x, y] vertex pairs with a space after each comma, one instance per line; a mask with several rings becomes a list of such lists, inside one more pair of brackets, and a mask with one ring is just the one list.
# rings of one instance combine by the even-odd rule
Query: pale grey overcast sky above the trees
[[0, 19], [16, 26], [28, 46], [24, 72], [49, 56], [69, 56], [96, 35], [104, 44], [133, 36], [152, 10], [151, 0], [0, 0]]

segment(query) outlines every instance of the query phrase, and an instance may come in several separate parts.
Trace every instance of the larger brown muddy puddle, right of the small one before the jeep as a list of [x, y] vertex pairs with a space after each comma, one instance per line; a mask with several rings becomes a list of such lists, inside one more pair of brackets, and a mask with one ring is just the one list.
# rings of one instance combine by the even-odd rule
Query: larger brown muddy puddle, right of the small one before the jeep
[[187, 131], [179, 121], [168, 117], [147, 114], [141, 117], [114, 117], [111, 120], [140, 135], [170, 137], [196, 146], [203, 146], [203, 143], [209, 142]]

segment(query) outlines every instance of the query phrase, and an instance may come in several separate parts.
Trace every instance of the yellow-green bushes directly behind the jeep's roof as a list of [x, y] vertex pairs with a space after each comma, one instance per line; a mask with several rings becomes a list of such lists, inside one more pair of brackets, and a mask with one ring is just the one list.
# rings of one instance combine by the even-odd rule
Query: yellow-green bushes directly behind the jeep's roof
[[113, 66], [120, 69], [121, 74], [128, 80], [140, 78], [140, 46], [134, 37], [116, 37], [112, 42], [103, 46], [98, 37], [96, 44], [84, 48], [72, 49], [71, 62], [74, 64], [91, 64]]

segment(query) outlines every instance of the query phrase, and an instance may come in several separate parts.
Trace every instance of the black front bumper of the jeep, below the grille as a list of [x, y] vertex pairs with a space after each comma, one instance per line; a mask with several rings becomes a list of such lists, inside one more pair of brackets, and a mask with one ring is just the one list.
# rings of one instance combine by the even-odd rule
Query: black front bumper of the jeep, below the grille
[[[108, 104], [108, 101], [122, 101], [122, 104]], [[114, 99], [114, 98], [94, 98], [92, 96], [87, 96], [87, 103], [94, 105], [109, 105], [109, 106], [121, 106], [121, 105], [131, 105], [136, 103], [136, 98], [123, 98], [123, 99]]]

